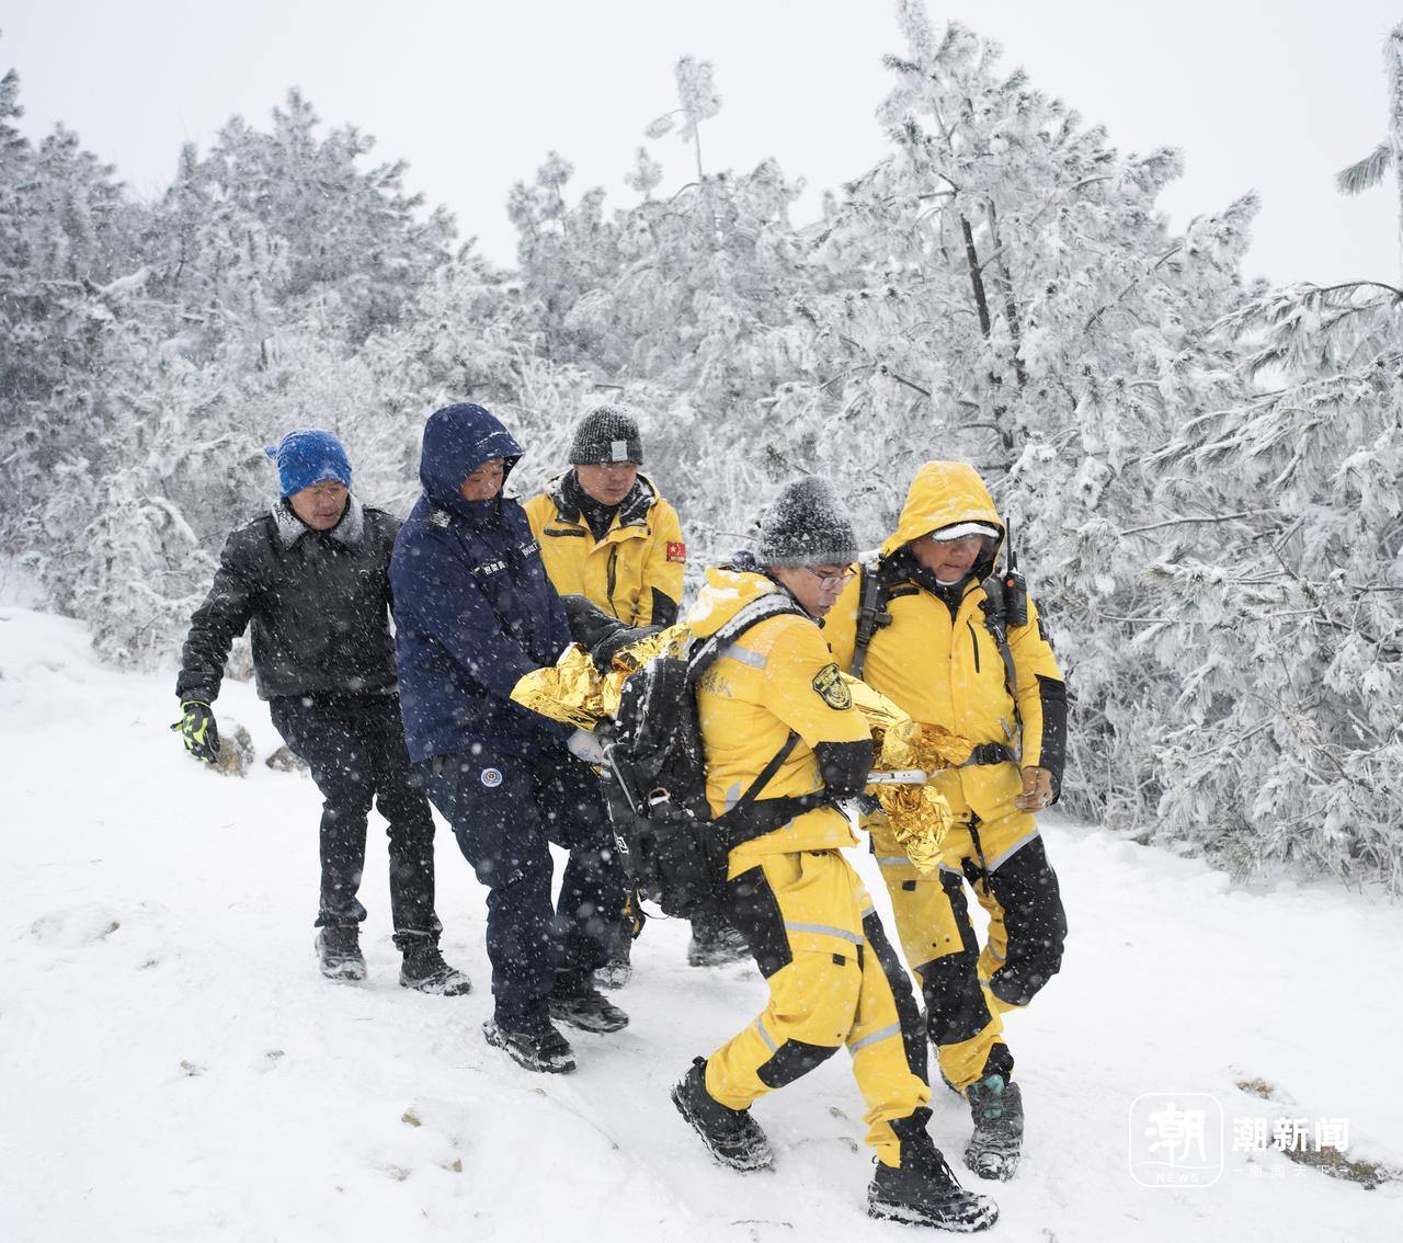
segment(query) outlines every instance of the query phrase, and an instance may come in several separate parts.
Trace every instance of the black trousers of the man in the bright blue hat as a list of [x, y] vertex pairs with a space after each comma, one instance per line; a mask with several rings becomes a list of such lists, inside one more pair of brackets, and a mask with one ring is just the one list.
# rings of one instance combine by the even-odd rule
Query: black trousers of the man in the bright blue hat
[[372, 802], [389, 821], [394, 944], [438, 941], [434, 913], [434, 817], [404, 746], [397, 694], [285, 696], [272, 723], [311, 769], [321, 791], [321, 903], [317, 927], [358, 925]]

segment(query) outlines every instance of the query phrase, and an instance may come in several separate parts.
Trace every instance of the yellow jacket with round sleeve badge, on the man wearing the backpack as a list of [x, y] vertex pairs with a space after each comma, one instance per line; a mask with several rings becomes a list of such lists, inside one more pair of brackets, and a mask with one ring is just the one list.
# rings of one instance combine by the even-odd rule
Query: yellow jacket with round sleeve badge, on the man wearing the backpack
[[[704, 640], [741, 607], [780, 588], [763, 574], [713, 567], [686, 616]], [[707, 801], [721, 815], [751, 787], [788, 741], [794, 749], [758, 791], [758, 798], [812, 794], [824, 788], [814, 746], [870, 742], [867, 721], [853, 707], [824, 634], [807, 616], [766, 617], [731, 644], [697, 685], [697, 721], [706, 748]], [[847, 818], [832, 807], [805, 811], [788, 824], [731, 852], [731, 875], [758, 856], [856, 845]]]

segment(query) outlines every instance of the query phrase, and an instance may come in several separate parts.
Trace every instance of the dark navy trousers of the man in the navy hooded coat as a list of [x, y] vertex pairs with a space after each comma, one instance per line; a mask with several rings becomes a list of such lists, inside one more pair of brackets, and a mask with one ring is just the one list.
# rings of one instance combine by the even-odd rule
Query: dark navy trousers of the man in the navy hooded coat
[[[547, 1017], [553, 989], [589, 983], [607, 961], [623, 909], [623, 868], [599, 779], [564, 752], [528, 760], [464, 751], [418, 770], [487, 888], [497, 1021], [522, 1027]], [[570, 852], [554, 908], [551, 842]]]

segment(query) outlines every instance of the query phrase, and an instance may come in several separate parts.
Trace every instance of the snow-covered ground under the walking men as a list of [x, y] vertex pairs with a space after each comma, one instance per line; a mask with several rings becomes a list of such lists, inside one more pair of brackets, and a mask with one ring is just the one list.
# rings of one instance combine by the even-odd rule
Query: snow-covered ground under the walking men
[[[706, 1157], [668, 1086], [749, 1021], [763, 985], [687, 968], [679, 925], [637, 944], [624, 1033], [571, 1033], [578, 1073], [528, 1075], [478, 1031], [483, 898], [446, 831], [443, 947], [477, 988], [397, 986], [373, 819], [370, 979], [323, 981], [316, 788], [189, 760], [167, 731], [173, 680], [104, 669], [74, 623], [0, 609], [0, 1239], [913, 1237], [863, 1214], [846, 1055], [756, 1106], [773, 1171]], [[260, 759], [278, 744], [250, 686], [217, 707]], [[986, 1237], [1403, 1237], [1403, 1184], [1368, 1191], [1235, 1143], [1237, 1120], [1268, 1135], [1281, 1117], [1347, 1120], [1350, 1156], [1403, 1164], [1403, 906], [1237, 888], [1094, 828], [1048, 840], [1072, 934], [1062, 975], [1009, 1024], [1028, 1139], [1019, 1177], [982, 1188], [1002, 1208]], [[1218, 1181], [1136, 1181], [1146, 1093], [1221, 1108]], [[944, 1089], [933, 1106], [958, 1167], [965, 1111]]]

